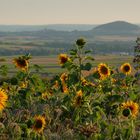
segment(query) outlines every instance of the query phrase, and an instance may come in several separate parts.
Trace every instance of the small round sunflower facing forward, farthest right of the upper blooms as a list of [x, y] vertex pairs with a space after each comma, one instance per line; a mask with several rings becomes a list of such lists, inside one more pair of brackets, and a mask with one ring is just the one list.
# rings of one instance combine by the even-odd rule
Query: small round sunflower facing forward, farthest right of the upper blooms
[[131, 68], [131, 65], [129, 63], [124, 63], [123, 65], [121, 65], [120, 70], [124, 74], [128, 75], [131, 73], [132, 68]]

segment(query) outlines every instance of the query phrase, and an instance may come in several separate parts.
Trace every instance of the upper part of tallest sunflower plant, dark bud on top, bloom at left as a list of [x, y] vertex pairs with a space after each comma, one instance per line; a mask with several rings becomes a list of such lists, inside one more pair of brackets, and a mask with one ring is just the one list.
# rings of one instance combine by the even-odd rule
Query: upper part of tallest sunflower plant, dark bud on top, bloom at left
[[[91, 62], [94, 58], [90, 55], [90, 50], [86, 49], [86, 41], [83, 38], [76, 40], [70, 54], [60, 54], [59, 60], [62, 68], [66, 68], [70, 74], [77, 76], [77, 81], [83, 77], [82, 71], [89, 71], [92, 68]], [[90, 62], [89, 62], [90, 61]]]

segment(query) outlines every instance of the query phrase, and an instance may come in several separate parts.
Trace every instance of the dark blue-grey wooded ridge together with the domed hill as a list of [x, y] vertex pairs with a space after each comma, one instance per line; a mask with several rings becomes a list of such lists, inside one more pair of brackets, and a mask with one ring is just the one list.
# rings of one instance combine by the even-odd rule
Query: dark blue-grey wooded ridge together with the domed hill
[[[35, 28], [35, 27], [34, 27]], [[32, 27], [32, 29], [34, 29]], [[61, 27], [62, 28], [62, 27]], [[39, 30], [40, 29], [40, 30]], [[19, 27], [18, 27], [19, 30]], [[102, 36], [102, 35], [123, 35], [123, 36], [139, 36], [140, 35], [140, 27], [131, 24], [125, 21], [116, 21], [112, 23], [107, 23], [103, 25], [99, 25], [91, 30], [88, 31], [56, 31], [47, 28], [38, 27], [35, 31], [18, 31], [18, 32], [0, 32], [1, 36], [32, 36], [32, 37], [39, 37], [39, 38], [46, 38], [51, 40], [73, 40], [79, 36], [84, 36], [86, 38], [94, 38], [95, 36]]]

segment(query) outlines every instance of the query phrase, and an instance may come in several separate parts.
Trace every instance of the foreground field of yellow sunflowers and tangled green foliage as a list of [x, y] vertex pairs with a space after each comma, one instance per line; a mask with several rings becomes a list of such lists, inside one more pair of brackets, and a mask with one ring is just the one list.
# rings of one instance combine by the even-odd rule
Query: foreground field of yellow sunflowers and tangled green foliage
[[32, 73], [30, 59], [14, 58], [17, 73], [8, 79], [0, 67], [1, 140], [140, 140], [138, 59], [93, 67], [82, 38], [59, 55], [65, 72], [52, 78]]

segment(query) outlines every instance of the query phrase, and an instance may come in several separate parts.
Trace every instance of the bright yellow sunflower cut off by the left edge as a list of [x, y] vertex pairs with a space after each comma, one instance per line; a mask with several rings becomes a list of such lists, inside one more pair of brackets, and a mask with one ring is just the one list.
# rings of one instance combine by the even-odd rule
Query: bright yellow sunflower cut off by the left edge
[[7, 94], [3, 89], [0, 88], [0, 111], [2, 111], [5, 108], [7, 99]]

